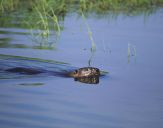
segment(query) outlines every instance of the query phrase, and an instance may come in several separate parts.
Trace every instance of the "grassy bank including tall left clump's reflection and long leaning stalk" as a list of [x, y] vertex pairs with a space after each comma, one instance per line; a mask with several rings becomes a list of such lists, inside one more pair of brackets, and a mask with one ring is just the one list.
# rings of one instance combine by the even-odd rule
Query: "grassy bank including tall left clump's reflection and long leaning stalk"
[[92, 49], [95, 49], [91, 29], [86, 22], [87, 14], [146, 16], [162, 5], [163, 0], [0, 0], [0, 27], [27, 28], [39, 48], [51, 48], [59, 39], [65, 15], [75, 12], [82, 16]]

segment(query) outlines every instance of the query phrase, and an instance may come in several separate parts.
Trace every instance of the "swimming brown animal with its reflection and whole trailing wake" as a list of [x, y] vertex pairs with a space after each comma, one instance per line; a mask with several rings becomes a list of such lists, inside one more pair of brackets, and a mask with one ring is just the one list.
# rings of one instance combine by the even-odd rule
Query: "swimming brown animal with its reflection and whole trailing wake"
[[97, 84], [99, 77], [107, 73], [95, 67], [77, 68], [59, 61], [0, 54], [0, 79], [20, 79], [39, 74], [71, 77], [82, 83]]

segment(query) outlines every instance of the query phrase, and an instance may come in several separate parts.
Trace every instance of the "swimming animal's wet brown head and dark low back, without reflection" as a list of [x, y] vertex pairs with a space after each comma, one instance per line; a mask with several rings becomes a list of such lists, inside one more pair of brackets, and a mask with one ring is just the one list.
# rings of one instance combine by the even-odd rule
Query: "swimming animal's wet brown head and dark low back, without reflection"
[[[40, 73], [57, 74], [57, 72], [39, 70], [39, 69], [34, 69], [34, 68], [25, 68], [25, 67], [10, 68], [10, 69], [7, 69], [6, 71], [22, 73], [22, 74], [27, 74], [27, 75], [35, 75], [35, 74], [40, 74]], [[60, 75], [65, 75], [65, 76], [69, 76], [73, 78], [93, 77], [93, 76], [100, 76], [100, 70], [94, 67], [84, 67], [84, 68], [79, 68], [75, 71], [70, 71], [70, 72], [66, 72], [62, 74], [60, 73]]]

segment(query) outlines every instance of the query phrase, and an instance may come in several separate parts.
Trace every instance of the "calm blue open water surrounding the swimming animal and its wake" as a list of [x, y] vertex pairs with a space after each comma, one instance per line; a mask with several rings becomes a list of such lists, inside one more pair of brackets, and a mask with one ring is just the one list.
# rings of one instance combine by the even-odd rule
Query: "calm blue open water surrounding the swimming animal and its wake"
[[[1, 79], [0, 127], [163, 127], [163, 10], [87, 22], [97, 46], [91, 66], [109, 74], [95, 85], [56, 76]], [[0, 42], [8, 44], [0, 54], [88, 66], [91, 42], [82, 18], [68, 14], [64, 26], [56, 50], [33, 49], [25, 29], [0, 28]]]

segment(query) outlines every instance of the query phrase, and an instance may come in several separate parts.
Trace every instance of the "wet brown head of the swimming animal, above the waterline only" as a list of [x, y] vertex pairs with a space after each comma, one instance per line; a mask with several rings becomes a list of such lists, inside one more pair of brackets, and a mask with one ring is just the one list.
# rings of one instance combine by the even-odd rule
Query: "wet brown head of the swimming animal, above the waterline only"
[[94, 67], [84, 67], [71, 72], [69, 75], [74, 78], [99, 76], [100, 70]]

